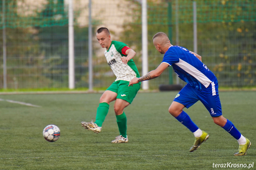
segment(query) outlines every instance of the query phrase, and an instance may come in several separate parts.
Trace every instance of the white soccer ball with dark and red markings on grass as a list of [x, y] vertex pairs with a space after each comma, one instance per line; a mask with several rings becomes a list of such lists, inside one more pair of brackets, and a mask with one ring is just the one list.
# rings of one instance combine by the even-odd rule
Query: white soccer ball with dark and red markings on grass
[[60, 134], [60, 129], [58, 128], [58, 126], [54, 124], [48, 125], [43, 130], [44, 139], [47, 140], [48, 142], [55, 142], [56, 140], [59, 139]]

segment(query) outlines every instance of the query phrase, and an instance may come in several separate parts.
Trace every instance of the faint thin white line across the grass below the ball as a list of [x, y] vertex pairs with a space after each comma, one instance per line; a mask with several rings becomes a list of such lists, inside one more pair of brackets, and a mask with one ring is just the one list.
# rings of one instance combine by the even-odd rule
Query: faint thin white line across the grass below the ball
[[51, 158], [101, 158], [101, 157], [142, 157], [142, 156], [169, 156], [169, 155], [109, 155], [109, 156], [57, 156], [57, 157], [33, 157], [33, 158], [0, 158], [0, 159], [51, 159]]

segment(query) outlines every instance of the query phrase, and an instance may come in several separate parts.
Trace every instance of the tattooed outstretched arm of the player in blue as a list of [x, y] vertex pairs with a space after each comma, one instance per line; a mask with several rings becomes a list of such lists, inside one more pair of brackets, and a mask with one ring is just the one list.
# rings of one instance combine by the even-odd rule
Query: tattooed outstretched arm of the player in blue
[[146, 75], [142, 76], [142, 77], [134, 77], [130, 82], [128, 86], [131, 86], [133, 84], [136, 84], [138, 82], [142, 82], [145, 80], [151, 80], [154, 79], [158, 76], [160, 76], [163, 71], [169, 66], [169, 64], [167, 63], [161, 63], [155, 70], [150, 71], [149, 73], [147, 73]]

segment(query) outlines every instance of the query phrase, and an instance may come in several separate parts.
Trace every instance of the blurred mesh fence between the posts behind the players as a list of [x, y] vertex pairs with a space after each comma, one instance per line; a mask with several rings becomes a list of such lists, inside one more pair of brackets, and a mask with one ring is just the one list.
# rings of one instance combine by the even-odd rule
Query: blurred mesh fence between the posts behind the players
[[[256, 1], [197, 0], [198, 51], [221, 87], [256, 86]], [[73, 0], [75, 87], [88, 88], [89, 0]], [[0, 0], [1, 32], [5, 28], [7, 88], [68, 88], [68, 0]], [[108, 27], [112, 40], [122, 41], [137, 54], [141, 73], [141, 0], [92, 1], [93, 88], [106, 88], [115, 75], [96, 40], [96, 30]], [[169, 35], [173, 45], [193, 51], [193, 1], [148, 0], [148, 70], [163, 55], [152, 36]], [[3, 15], [4, 14], [4, 15]], [[1, 40], [3, 34], [0, 33]], [[3, 41], [0, 41], [3, 46]], [[0, 48], [0, 88], [3, 88], [3, 48]], [[172, 68], [169, 68], [172, 69]], [[171, 75], [169, 75], [171, 74]], [[150, 80], [150, 89], [179, 82], [166, 70]], [[183, 83], [184, 85], [184, 83]]]

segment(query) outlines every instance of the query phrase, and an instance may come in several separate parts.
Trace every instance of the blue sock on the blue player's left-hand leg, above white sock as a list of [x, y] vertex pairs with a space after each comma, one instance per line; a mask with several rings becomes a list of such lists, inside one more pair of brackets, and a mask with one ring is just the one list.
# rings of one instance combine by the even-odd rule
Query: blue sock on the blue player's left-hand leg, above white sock
[[185, 127], [187, 127], [191, 132], [195, 132], [197, 129], [199, 129], [185, 111], [182, 111], [179, 116], [175, 118]]

